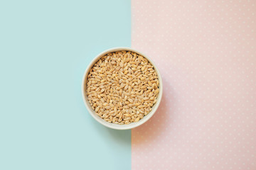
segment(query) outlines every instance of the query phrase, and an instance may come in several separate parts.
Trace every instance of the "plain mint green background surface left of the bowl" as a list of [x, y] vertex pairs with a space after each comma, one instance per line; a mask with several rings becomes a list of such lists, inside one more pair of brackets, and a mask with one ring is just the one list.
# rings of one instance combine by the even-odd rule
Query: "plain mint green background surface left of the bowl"
[[131, 169], [131, 132], [82, 102], [95, 55], [131, 45], [130, 1], [0, 1], [0, 169]]

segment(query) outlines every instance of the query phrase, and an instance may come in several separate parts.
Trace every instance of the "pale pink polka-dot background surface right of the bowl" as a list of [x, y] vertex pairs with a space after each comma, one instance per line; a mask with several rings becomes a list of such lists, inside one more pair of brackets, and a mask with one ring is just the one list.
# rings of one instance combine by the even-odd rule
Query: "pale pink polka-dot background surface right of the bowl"
[[256, 169], [256, 1], [132, 0], [132, 47], [164, 95], [132, 169]]

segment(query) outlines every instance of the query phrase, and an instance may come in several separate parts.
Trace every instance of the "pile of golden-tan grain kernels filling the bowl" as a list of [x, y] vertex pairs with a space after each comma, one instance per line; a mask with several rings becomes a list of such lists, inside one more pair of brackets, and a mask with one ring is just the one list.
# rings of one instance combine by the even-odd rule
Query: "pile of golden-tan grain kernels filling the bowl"
[[111, 52], [90, 69], [86, 94], [100, 118], [127, 125], [138, 122], [151, 111], [159, 94], [159, 79], [142, 55]]

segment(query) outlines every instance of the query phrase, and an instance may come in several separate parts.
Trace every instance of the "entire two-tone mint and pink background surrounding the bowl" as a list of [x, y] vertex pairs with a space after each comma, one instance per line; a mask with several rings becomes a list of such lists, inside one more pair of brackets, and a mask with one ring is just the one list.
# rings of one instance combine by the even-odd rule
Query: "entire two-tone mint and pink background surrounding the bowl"
[[[0, 169], [256, 169], [256, 1], [0, 1]], [[159, 67], [158, 111], [105, 128], [82, 102], [95, 55]]]

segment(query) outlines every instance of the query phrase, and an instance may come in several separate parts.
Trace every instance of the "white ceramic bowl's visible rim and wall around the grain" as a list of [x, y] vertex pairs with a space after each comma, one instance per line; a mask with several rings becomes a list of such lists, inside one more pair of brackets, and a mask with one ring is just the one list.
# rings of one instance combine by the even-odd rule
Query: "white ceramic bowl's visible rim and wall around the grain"
[[[100, 60], [101, 57], [103, 57], [104, 55], [107, 55], [107, 53], [109, 53], [109, 52], [117, 52], [117, 51], [122, 51], [122, 50], [136, 52], [137, 54], [142, 55], [143, 57], [145, 57], [154, 66], [154, 69], [156, 70], [156, 74], [159, 77], [159, 95], [157, 97], [157, 101], [154, 104], [152, 110], [146, 116], [144, 116], [144, 118], [139, 120], [137, 123], [130, 123], [129, 125], [118, 125], [118, 124], [114, 124], [114, 123], [109, 123], [109, 122], [103, 120], [102, 118], [100, 118], [95, 113], [95, 111], [93, 111], [93, 109], [91, 108], [90, 103], [88, 102], [87, 96], [85, 94], [87, 75], [90, 72], [90, 69], [92, 68], [92, 66], [98, 60]], [[85, 106], [86, 106], [87, 110], [89, 111], [90, 115], [92, 115], [92, 117], [95, 118], [95, 120], [97, 120], [97, 122], [101, 123], [102, 125], [107, 126], [108, 128], [112, 128], [112, 129], [127, 130], [127, 129], [136, 128], [137, 126], [142, 125], [143, 123], [145, 123], [156, 112], [156, 109], [159, 107], [159, 104], [161, 102], [162, 95], [163, 95], [163, 82], [162, 82], [162, 79], [161, 79], [161, 75], [160, 75], [159, 69], [157, 69], [157, 67], [156, 67], [156, 64], [154, 64], [154, 62], [152, 62], [152, 60], [150, 60], [149, 57], [147, 57], [146, 55], [142, 54], [142, 52], [138, 52], [137, 50], [134, 50], [134, 49], [129, 48], [129, 47], [114, 47], [114, 48], [111, 48], [109, 50], [105, 50], [104, 52], [101, 52], [99, 55], [97, 55], [92, 60], [92, 62], [90, 62], [90, 64], [88, 65], [87, 69], [85, 70], [85, 74], [84, 74], [83, 79], [82, 79], [82, 98], [83, 98], [83, 101], [85, 102]]]

